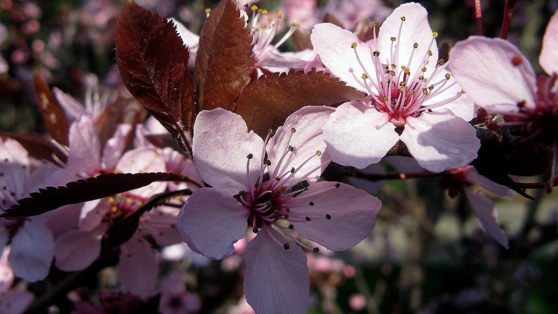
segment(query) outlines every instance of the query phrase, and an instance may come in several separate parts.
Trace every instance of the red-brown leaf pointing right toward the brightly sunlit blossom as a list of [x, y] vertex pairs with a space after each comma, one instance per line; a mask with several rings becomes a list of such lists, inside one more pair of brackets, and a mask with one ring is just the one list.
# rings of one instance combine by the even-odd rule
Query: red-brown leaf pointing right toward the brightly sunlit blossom
[[304, 106], [337, 106], [363, 98], [357, 89], [329, 74], [291, 70], [260, 77], [247, 85], [238, 97], [235, 112], [246, 120], [248, 129], [265, 136]]

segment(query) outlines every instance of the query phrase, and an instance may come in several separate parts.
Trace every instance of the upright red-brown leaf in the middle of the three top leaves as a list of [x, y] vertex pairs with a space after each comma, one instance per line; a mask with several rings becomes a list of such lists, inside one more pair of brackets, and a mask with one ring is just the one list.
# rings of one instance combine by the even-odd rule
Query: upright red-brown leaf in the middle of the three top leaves
[[233, 0], [222, 0], [201, 29], [194, 81], [198, 108], [232, 110], [254, 70], [252, 34]]

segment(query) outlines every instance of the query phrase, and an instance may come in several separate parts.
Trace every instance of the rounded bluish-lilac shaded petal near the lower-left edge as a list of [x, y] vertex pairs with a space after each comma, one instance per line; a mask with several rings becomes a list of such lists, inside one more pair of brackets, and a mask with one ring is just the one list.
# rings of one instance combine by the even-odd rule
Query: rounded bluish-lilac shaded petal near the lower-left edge
[[28, 282], [36, 282], [49, 274], [54, 240], [50, 229], [39, 222], [27, 221], [12, 237], [8, 256], [13, 273]]

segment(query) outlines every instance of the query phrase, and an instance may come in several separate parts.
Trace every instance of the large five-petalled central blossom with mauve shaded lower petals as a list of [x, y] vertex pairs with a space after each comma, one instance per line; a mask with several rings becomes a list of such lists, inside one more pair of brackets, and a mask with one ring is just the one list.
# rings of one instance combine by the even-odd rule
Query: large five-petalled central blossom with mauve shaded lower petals
[[[306, 238], [345, 250], [371, 232], [381, 202], [335, 182], [316, 182], [330, 163], [321, 126], [333, 108], [304, 107], [265, 140], [235, 113], [199, 113], [193, 155], [201, 188], [179, 213], [190, 248], [211, 259], [234, 253], [247, 227], [244, 293], [257, 313], [304, 313], [309, 302]], [[267, 180], [266, 178], [270, 179]], [[307, 187], [302, 181], [309, 183]]]

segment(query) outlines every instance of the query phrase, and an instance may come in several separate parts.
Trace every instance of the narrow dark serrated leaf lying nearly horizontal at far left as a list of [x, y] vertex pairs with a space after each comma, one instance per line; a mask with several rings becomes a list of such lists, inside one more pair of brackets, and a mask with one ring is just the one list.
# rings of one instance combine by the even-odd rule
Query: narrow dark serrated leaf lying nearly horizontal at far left
[[186, 177], [174, 173], [108, 173], [97, 177], [80, 179], [64, 187], [46, 187], [22, 198], [8, 208], [0, 217], [31, 217], [56, 208], [93, 201], [114, 194], [145, 187], [155, 181], [182, 181]]

